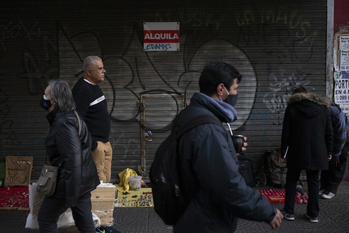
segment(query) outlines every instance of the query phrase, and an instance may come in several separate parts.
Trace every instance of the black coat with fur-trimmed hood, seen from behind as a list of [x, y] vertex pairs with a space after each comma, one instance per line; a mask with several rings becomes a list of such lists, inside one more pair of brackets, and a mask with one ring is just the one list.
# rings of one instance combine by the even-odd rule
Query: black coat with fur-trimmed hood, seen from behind
[[281, 151], [287, 168], [327, 170], [332, 152], [331, 100], [314, 93], [290, 97], [282, 127]]

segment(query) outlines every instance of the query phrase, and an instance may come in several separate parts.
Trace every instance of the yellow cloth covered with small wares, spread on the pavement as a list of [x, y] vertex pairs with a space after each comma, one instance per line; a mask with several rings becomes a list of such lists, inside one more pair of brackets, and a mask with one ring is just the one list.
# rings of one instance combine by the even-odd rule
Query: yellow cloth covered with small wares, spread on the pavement
[[114, 207], [154, 207], [152, 188], [118, 192]]

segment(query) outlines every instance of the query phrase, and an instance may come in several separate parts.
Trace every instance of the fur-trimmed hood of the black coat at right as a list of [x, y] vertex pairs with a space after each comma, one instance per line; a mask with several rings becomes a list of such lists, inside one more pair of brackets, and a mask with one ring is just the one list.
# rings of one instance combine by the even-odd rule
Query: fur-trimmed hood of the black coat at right
[[290, 97], [287, 104], [295, 104], [305, 116], [315, 117], [324, 111], [324, 108], [330, 107], [331, 100], [314, 93], [296, 93]]

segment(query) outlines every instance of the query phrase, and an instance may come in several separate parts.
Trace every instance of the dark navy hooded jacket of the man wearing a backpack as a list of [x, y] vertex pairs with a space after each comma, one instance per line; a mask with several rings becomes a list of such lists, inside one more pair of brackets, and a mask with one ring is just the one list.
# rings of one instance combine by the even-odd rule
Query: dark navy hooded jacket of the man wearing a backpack
[[[181, 113], [179, 125], [201, 114], [225, 121], [219, 109], [195, 93]], [[239, 174], [230, 134], [222, 126], [209, 123], [189, 130], [180, 138], [178, 152], [182, 185], [195, 195], [174, 225], [174, 232], [231, 233], [238, 218], [273, 220], [276, 210]]]

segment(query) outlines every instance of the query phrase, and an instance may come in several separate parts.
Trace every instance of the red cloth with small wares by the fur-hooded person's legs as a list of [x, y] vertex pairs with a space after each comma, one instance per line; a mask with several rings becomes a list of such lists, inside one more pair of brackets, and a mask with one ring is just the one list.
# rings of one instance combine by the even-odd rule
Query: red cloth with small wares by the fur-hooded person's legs
[[[285, 203], [285, 189], [259, 189], [260, 195], [266, 197], [270, 203]], [[295, 203], [308, 203], [308, 195], [296, 192]]]

